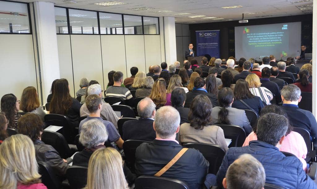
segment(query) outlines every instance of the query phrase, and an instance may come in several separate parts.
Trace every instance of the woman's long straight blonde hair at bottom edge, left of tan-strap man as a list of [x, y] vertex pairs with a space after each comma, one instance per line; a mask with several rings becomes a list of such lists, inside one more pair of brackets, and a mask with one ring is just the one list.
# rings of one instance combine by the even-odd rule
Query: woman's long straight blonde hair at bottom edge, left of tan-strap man
[[107, 147], [96, 150], [89, 159], [86, 189], [128, 189], [120, 153]]

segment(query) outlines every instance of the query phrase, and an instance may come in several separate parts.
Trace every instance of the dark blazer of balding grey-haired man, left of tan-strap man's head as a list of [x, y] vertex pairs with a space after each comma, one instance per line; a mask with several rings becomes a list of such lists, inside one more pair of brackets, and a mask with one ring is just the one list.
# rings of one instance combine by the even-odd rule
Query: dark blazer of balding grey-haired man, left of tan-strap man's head
[[124, 122], [122, 126], [122, 139], [154, 140], [156, 134], [153, 129], [153, 121], [152, 119], [140, 118], [139, 120]]

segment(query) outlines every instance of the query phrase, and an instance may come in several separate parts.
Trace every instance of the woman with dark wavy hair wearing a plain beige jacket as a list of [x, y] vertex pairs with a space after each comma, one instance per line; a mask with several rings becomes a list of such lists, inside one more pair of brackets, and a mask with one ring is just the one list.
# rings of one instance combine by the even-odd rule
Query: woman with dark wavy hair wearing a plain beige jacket
[[228, 150], [221, 127], [212, 125], [212, 104], [205, 95], [198, 95], [191, 102], [188, 114], [189, 123], [179, 128], [179, 141], [186, 143], [217, 144], [224, 151]]

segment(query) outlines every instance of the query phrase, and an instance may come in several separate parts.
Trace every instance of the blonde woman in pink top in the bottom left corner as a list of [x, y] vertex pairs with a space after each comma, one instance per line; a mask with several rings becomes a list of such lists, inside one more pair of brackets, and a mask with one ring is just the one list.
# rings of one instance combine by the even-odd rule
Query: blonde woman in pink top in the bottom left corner
[[41, 183], [34, 145], [28, 136], [12, 135], [0, 145], [0, 188], [47, 189]]

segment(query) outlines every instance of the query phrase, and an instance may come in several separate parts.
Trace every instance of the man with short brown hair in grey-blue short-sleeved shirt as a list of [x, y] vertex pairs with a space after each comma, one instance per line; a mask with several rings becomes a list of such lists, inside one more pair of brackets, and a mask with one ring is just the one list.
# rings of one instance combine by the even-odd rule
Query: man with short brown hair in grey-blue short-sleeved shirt
[[100, 96], [97, 94], [90, 94], [89, 96], [87, 96], [86, 106], [89, 111], [89, 116], [80, 122], [79, 133], [81, 133], [81, 127], [85, 122], [92, 119], [99, 120], [106, 127], [108, 133], [108, 141], [110, 143], [114, 142], [117, 144], [119, 148], [122, 148], [123, 140], [121, 139], [117, 129], [113, 126], [113, 124], [110, 121], [103, 120], [100, 117], [100, 112], [102, 110], [102, 102]]

